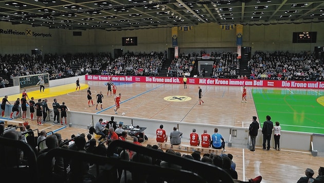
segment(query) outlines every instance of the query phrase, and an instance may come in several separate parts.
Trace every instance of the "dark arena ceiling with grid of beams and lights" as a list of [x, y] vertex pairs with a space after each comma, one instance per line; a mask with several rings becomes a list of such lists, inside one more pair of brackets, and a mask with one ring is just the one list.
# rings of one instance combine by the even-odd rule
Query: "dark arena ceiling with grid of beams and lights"
[[0, 21], [81, 30], [266, 25], [324, 22], [323, 18], [322, 0], [0, 0]]

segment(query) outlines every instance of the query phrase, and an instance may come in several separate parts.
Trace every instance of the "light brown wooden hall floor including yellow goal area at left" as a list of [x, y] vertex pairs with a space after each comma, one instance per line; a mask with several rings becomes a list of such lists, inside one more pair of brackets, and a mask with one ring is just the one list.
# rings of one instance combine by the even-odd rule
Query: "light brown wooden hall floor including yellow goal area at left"
[[[257, 116], [250, 88], [247, 88], [247, 103], [241, 103], [241, 87], [200, 85], [204, 104], [198, 105], [199, 85], [187, 85], [187, 88], [184, 88], [183, 84], [117, 82], [115, 84], [117, 85], [117, 94], [121, 93], [122, 95], [118, 115], [125, 113], [125, 116], [129, 117], [244, 127], [249, 125], [252, 116]], [[91, 87], [94, 104], [96, 104], [96, 95], [102, 91], [103, 110], [100, 109], [100, 106], [98, 106], [99, 110], [96, 110], [95, 106], [88, 107], [86, 98], [88, 87]], [[72, 83], [46, 88], [44, 93], [30, 88], [27, 89], [27, 93], [29, 98], [34, 97], [35, 101], [39, 98], [47, 98], [49, 108], [51, 108], [53, 99], [57, 98], [60, 104], [64, 101], [70, 111], [115, 116], [114, 97], [107, 96], [105, 82], [81, 83], [80, 91], [76, 91], [75, 84]], [[13, 103], [16, 98], [16, 96], [9, 96], [8, 99], [10, 103]], [[169, 100], [165, 100], [165, 98]], [[260, 118], [260, 121], [264, 121], [265, 116]], [[62, 127], [48, 122], [43, 126], [37, 126], [35, 120], [29, 122], [33, 129], [39, 127], [40, 130], [45, 129], [46, 131], [56, 131]], [[86, 133], [87, 131], [87, 129], [76, 127], [64, 127], [57, 133], [61, 133], [65, 139], [70, 138], [71, 134]], [[153, 145], [156, 142], [150, 138], [144, 143]], [[313, 157], [310, 152], [297, 152], [284, 149], [284, 147], [281, 147], [281, 151], [274, 149], [262, 151], [262, 148], [259, 147], [255, 152], [242, 148], [227, 147], [226, 149], [226, 153], [233, 155], [240, 180], [261, 175], [262, 182], [297, 182], [301, 176], [305, 176], [306, 168], [313, 169], [316, 177], [318, 168], [324, 166], [322, 157]]]

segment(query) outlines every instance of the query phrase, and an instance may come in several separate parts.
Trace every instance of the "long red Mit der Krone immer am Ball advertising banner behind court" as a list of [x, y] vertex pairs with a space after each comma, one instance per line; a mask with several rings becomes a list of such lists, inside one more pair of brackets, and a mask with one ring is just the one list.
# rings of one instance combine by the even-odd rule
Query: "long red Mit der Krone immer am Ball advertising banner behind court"
[[[183, 83], [183, 78], [177, 77], [150, 77], [150, 76], [106, 76], [85, 75], [85, 80], [115, 82], [147, 82], [147, 83]], [[241, 79], [214, 79], [214, 78], [188, 78], [187, 84], [206, 84], [220, 86], [257, 86], [257, 87], [283, 87], [283, 88], [312, 88], [324, 89], [324, 82], [319, 81], [286, 81], [286, 80], [241, 80]]]

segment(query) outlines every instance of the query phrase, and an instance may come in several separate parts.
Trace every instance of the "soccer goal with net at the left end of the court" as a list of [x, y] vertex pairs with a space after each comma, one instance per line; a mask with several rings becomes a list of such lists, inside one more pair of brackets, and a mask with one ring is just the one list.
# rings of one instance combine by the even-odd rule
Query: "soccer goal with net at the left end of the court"
[[48, 84], [49, 74], [43, 73], [38, 75], [13, 77], [13, 86], [20, 86], [20, 88], [34, 86], [40, 81], [41, 78], [44, 80], [45, 84]]

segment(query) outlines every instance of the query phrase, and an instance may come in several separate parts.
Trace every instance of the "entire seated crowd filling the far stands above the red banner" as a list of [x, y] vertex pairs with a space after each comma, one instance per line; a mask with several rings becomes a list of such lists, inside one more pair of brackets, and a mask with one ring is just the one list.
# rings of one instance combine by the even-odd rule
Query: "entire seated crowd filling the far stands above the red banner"
[[[323, 81], [323, 60], [316, 59], [309, 52], [274, 53], [256, 51], [247, 63], [249, 76], [240, 75], [239, 59], [236, 52], [211, 52], [214, 60], [210, 76], [205, 76], [204, 69], [197, 69], [197, 57], [205, 54], [192, 52], [180, 53], [168, 67], [169, 77], [239, 78], [261, 80], [303, 80]], [[127, 75], [127, 76], [159, 76], [166, 61], [166, 53], [162, 52], [126, 52], [113, 59], [110, 53], [76, 53], [64, 54], [0, 54], [0, 74], [10, 76], [28, 76], [48, 73], [50, 80], [85, 74]], [[9, 83], [1, 80], [0, 87]]]

